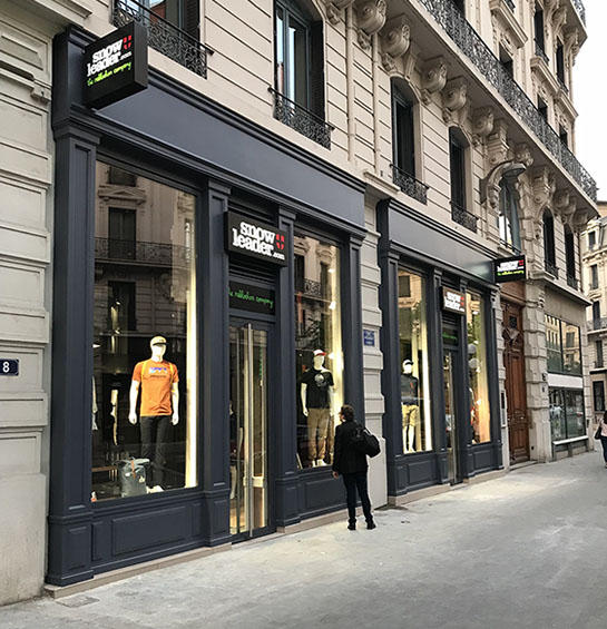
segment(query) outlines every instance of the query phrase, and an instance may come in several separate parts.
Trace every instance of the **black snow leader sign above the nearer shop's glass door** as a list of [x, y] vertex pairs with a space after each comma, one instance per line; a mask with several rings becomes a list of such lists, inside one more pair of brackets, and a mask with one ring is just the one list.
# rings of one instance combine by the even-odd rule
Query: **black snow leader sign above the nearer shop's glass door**
[[286, 232], [257, 223], [233, 212], [227, 213], [226, 247], [228, 252], [264, 259], [273, 264], [288, 264]]

